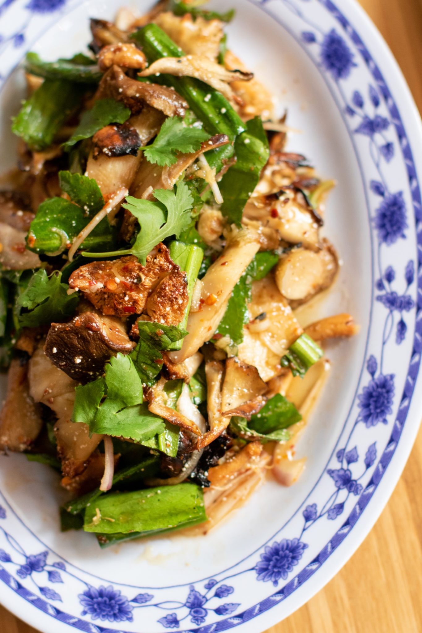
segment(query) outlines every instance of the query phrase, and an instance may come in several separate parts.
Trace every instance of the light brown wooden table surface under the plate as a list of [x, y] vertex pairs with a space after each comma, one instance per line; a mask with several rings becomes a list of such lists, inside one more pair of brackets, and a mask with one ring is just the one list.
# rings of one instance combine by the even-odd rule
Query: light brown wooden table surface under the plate
[[[360, 0], [422, 112], [422, 1]], [[230, 4], [230, 2], [229, 2]], [[422, 428], [375, 527], [309, 602], [266, 633], [422, 633]], [[0, 606], [2, 633], [37, 633]]]

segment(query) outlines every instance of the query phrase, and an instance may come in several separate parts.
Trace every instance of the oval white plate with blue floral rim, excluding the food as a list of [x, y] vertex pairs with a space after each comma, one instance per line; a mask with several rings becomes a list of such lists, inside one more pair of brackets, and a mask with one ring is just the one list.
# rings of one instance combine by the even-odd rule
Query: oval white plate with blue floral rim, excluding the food
[[[15, 162], [9, 116], [23, 96], [22, 72], [13, 68], [28, 49], [51, 60], [81, 50], [87, 18], [111, 18], [117, 4], [0, 4], [2, 170]], [[299, 444], [308, 458], [302, 479], [290, 489], [266, 484], [205, 538], [101, 551], [89, 534], [59, 532], [63, 494], [47, 467], [1, 457], [0, 599], [46, 633], [266, 629], [311, 598], [359, 546], [418, 430], [421, 127], [406, 84], [352, 0], [229, 4], [237, 8], [230, 47], [302, 130], [289, 147], [338, 181], [326, 234], [344, 266], [319, 310], [351, 312], [361, 332], [328, 350], [333, 372]]]

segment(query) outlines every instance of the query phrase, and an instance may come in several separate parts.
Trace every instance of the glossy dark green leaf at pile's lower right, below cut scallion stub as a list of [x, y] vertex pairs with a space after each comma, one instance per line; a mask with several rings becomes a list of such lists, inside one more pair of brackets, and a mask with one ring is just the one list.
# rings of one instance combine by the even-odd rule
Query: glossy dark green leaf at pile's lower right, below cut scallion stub
[[253, 441], [259, 439], [261, 443], [271, 441], [286, 441], [290, 434], [287, 430], [296, 422], [302, 420], [295, 405], [281, 394], [270, 398], [259, 413], [254, 413], [251, 420], [234, 416], [230, 422], [232, 430], [244, 439]]

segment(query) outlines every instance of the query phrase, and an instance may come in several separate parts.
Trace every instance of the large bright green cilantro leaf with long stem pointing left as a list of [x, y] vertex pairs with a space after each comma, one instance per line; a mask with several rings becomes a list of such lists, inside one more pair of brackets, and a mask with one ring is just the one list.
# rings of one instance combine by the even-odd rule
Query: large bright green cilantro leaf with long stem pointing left
[[170, 235], [178, 237], [190, 223], [190, 213], [194, 203], [189, 187], [184, 182], [177, 186], [177, 191], [155, 189], [157, 202], [140, 200], [128, 196], [122, 204], [140, 223], [140, 231], [131, 248], [111, 253], [82, 253], [85, 257], [113, 257], [115, 255], [136, 255], [142, 264], [146, 263], [147, 254], [158, 242]]

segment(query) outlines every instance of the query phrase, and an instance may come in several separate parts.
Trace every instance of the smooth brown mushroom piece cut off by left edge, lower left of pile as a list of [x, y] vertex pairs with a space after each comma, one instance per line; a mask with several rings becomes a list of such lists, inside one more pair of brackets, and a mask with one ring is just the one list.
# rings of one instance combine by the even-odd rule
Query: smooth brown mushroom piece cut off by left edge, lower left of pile
[[0, 448], [24, 451], [37, 439], [42, 428], [41, 410], [29, 393], [28, 365], [11, 361], [8, 389], [0, 413]]

